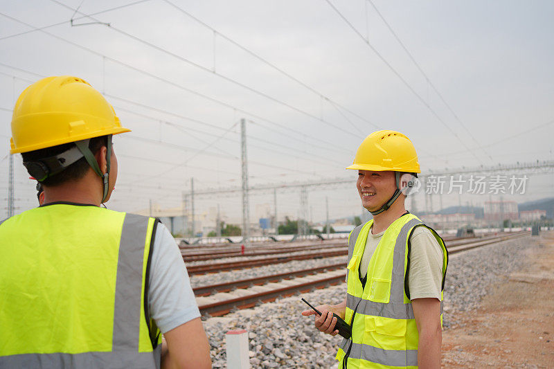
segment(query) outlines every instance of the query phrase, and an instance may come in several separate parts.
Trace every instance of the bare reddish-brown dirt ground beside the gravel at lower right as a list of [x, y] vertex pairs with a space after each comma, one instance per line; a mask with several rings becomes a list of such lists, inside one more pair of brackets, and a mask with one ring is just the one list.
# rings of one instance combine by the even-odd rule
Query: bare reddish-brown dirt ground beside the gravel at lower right
[[554, 368], [554, 232], [530, 242], [521, 271], [443, 331], [443, 368]]

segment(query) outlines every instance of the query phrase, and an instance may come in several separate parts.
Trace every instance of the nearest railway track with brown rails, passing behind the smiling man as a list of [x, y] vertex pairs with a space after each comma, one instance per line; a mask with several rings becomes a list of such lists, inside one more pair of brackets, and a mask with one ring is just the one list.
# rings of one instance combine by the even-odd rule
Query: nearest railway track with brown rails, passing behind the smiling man
[[[504, 240], [510, 240], [518, 237], [528, 236], [530, 233], [527, 231], [512, 233], [510, 235], [501, 235], [495, 237], [488, 237], [486, 240], [476, 241], [474, 238], [469, 242], [459, 243], [457, 242], [455, 246], [449, 246], [449, 254], [461, 253], [466, 250], [475, 249], [476, 247], [485, 246], [488, 244], [494, 244], [497, 242], [502, 242]], [[346, 254], [343, 253], [342, 255]], [[305, 255], [301, 255], [305, 256]], [[302, 260], [302, 259], [300, 259]], [[228, 300], [220, 300], [213, 302], [206, 302], [199, 304], [200, 313], [202, 315], [210, 316], [222, 316], [228, 314], [233, 309], [247, 309], [253, 307], [258, 303], [267, 303], [274, 301], [278, 297], [287, 297], [294, 294], [305, 293], [312, 289], [319, 289], [328, 287], [330, 285], [337, 285], [346, 278], [346, 272], [340, 271], [337, 269], [343, 269], [346, 267], [346, 264], [333, 264], [326, 267], [305, 269], [301, 271], [293, 271], [289, 273], [280, 273], [274, 274], [271, 276], [262, 276], [258, 278], [250, 278], [247, 280], [239, 280], [235, 282], [222, 283], [218, 285], [196, 287], [193, 289], [196, 296], [207, 296], [213, 293], [220, 293], [225, 291], [231, 291], [233, 289], [244, 289], [251, 287], [253, 285], [260, 286], [265, 285], [266, 283], [275, 283], [282, 282], [283, 280], [289, 280], [292, 277], [302, 277], [302, 276], [312, 276], [316, 273], [326, 273], [327, 276], [324, 278], [312, 278], [312, 280], [306, 280], [307, 277], [304, 277], [301, 282], [294, 283], [292, 282], [289, 285], [283, 285], [283, 283], [276, 284], [276, 288], [269, 288], [265, 290], [255, 291], [253, 294], [244, 294], [244, 296], [233, 296]]]

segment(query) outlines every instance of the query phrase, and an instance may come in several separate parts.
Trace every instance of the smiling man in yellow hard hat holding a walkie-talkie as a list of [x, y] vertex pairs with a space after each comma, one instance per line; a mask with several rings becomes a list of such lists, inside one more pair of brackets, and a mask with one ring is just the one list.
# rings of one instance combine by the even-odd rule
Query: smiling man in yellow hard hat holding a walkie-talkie
[[421, 172], [415, 147], [400, 132], [373, 132], [346, 169], [358, 171], [361, 204], [373, 219], [348, 236], [346, 298], [316, 307], [315, 325], [337, 334], [335, 313], [352, 328], [339, 345], [339, 368], [440, 368], [448, 253], [404, 208]]

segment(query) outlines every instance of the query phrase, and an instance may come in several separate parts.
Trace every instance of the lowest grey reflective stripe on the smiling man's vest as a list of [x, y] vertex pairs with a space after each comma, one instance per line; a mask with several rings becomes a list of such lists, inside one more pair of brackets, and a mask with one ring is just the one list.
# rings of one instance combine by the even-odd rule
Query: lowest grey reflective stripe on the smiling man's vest
[[386, 366], [418, 366], [418, 350], [384, 350], [363, 343], [352, 343], [348, 357]]

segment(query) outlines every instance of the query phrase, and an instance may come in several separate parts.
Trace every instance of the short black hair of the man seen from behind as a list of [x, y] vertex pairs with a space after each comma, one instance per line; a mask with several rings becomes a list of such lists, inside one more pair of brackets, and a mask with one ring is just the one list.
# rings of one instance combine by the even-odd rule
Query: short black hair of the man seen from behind
[[[23, 161], [38, 161], [48, 158], [49, 156], [61, 154], [71, 149], [73, 146], [75, 146], [75, 143], [64, 143], [62, 145], [46, 147], [35, 151], [22, 152], [21, 156], [23, 156]], [[91, 141], [89, 141], [89, 149], [94, 155], [96, 155], [102, 146], [107, 146], [107, 136], [93, 137]], [[91, 166], [83, 156], [81, 159], [62, 170], [62, 172], [44, 179], [41, 183], [44, 184], [44, 186], [57, 186], [68, 181], [75, 181], [84, 177], [84, 174], [87, 173], [89, 168], [91, 168]]]

